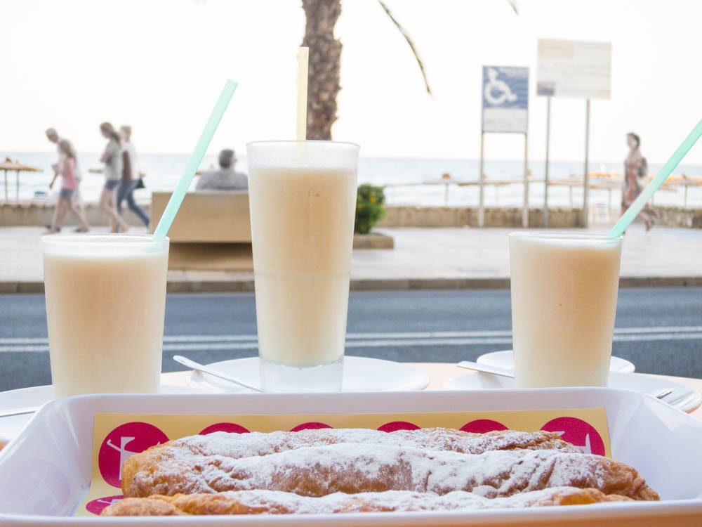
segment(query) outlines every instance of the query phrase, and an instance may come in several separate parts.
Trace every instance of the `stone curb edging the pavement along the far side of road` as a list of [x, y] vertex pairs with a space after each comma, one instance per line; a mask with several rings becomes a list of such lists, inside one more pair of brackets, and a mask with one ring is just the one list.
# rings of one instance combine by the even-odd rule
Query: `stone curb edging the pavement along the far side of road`
[[[509, 289], [509, 278], [352, 278], [352, 291]], [[702, 276], [623, 276], [619, 287], [702, 287]], [[251, 293], [253, 278], [168, 280], [169, 293]], [[44, 282], [0, 282], [0, 294], [44, 293]]]

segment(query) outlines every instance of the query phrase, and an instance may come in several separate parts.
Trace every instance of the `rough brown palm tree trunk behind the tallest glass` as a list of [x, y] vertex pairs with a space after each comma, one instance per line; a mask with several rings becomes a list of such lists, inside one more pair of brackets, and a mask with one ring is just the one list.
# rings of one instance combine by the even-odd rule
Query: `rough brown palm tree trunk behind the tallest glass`
[[305, 37], [310, 48], [307, 84], [307, 139], [331, 139], [336, 121], [341, 42], [334, 38], [334, 26], [341, 14], [341, 0], [303, 0]]

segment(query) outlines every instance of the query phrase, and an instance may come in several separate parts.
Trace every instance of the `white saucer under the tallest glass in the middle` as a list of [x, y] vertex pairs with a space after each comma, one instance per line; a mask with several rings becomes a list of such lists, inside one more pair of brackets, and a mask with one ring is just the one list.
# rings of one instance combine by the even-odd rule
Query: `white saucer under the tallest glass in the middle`
[[[259, 386], [258, 357], [223, 360], [209, 367]], [[187, 384], [208, 391], [249, 391], [236, 384], [201, 372], [192, 372]], [[416, 367], [392, 360], [366, 357], [344, 357], [342, 391], [404, 391], [420, 390], [429, 384], [429, 377]]]

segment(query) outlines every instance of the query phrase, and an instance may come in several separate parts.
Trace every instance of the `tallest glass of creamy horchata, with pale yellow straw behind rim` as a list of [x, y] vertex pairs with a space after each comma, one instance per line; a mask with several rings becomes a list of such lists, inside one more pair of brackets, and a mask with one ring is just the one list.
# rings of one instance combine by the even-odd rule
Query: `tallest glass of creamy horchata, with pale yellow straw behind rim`
[[247, 145], [263, 389], [341, 389], [359, 146]]

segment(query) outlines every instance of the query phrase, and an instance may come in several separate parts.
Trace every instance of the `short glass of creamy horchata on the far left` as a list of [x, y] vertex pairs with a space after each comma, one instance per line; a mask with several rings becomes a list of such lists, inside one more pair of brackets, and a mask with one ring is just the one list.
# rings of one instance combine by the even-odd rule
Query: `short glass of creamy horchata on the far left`
[[168, 238], [46, 235], [41, 245], [55, 396], [157, 391]]

